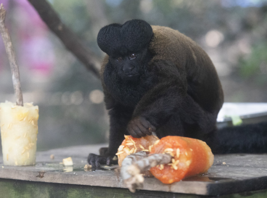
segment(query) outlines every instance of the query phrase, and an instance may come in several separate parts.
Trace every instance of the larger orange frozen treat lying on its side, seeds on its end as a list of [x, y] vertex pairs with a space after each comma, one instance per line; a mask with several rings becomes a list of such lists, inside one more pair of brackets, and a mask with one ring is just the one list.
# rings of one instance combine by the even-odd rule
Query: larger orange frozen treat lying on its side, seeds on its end
[[205, 173], [214, 160], [211, 149], [205, 142], [180, 136], [163, 137], [154, 143], [150, 153], [168, 153], [172, 156], [169, 164], [160, 164], [150, 169], [164, 184]]

